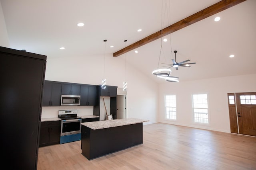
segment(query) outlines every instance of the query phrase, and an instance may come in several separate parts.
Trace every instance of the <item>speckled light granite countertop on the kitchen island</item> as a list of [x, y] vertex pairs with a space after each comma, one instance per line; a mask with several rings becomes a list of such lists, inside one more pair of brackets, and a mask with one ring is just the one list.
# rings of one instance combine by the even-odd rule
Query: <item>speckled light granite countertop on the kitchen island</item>
[[127, 118], [127, 119], [113, 119], [113, 120], [105, 120], [105, 121], [85, 122], [85, 123], [81, 123], [81, 125], [84, 125], [86, 127], [89, 127], [90, 129], [96, 130], [96, 129], [105, 129], [109, 127], [131, 125], [131, 124], [142, 123], [146, 121], [149, 121], [149, 120]]

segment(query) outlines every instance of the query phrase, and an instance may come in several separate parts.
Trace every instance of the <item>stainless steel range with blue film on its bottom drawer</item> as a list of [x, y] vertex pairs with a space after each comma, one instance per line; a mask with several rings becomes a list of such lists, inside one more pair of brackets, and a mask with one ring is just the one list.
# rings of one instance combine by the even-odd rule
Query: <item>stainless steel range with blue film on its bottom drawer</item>
[[58, 117], [61, 119], [60, 144], [79, 141], [82, 118], [77, 116], [77, 110], [59, 110]]

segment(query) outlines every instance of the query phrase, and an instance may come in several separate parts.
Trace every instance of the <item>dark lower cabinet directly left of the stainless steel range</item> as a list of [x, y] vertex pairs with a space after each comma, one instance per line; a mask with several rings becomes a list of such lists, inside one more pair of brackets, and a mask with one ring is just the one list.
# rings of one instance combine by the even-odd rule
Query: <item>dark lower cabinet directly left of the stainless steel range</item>
[[60, 143], [61, 121], [41, 122], [39, 147]]

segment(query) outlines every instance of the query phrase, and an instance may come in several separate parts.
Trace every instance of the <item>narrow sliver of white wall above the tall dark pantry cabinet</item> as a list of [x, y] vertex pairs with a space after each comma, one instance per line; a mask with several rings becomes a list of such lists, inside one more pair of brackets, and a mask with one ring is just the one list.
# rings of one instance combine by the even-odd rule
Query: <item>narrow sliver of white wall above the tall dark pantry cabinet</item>
[[0, 46], [10, 48], [1, 2], [0, 2]]

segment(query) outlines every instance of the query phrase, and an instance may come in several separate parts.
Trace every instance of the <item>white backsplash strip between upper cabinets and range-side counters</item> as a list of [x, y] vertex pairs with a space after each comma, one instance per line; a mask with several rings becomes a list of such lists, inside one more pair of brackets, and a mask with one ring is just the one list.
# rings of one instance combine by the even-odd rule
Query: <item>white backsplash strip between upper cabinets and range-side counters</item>
[[93, 115], [93, 106], [46, 106], [42, 107], [41, 118], [58, 117], [59, 110], [77, 110], [78, 116]]

